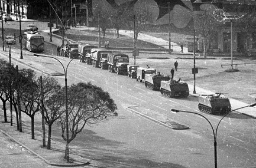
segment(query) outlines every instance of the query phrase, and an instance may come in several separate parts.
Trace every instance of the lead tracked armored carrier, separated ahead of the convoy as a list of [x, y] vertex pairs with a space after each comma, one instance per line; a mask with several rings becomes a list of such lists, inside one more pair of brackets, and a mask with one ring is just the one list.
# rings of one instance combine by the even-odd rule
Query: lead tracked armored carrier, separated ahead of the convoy
[[221, 93], [200, 95], [198, 108], [209, 114], [226, 114], [231, 111], [229, 98]]

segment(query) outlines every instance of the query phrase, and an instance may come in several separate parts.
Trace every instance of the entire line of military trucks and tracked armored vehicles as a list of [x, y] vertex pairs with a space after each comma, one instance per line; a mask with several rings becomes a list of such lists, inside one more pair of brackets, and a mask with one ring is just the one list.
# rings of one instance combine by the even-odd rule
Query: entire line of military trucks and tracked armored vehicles
[[[93, 67], [108, 69], [111, 73], [125, 74], [144, 82], [150, 90], [158, 90], [166, 97], [187, 98], [189, 87], [187, 83], [174, 80], [168, 75], [161, 74], [154, 68], [144, 68], [139, 65], [130, 65], [128, 55], [121, 52], [112, 52], [105, 48], [97, 48], [95, 45], [67, 43], [63, 56], [79, 58], [80, 62], [92, 64]], [[148, 66], [148, 65], [147, 65]], [[209, 114], [226, 114], [231, 111], [229, 99], [220, 93], [200, 95], [198, 108]]]

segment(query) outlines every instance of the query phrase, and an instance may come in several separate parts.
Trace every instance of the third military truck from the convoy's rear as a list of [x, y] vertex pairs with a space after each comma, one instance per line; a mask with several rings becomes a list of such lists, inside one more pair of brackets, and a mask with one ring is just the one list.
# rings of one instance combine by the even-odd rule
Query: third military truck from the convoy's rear
[[92, 60], [93, 67], [108, 68], [108, 54], [111, 51], [105, 48], [92, 48], [90, 51], [90, 59]]

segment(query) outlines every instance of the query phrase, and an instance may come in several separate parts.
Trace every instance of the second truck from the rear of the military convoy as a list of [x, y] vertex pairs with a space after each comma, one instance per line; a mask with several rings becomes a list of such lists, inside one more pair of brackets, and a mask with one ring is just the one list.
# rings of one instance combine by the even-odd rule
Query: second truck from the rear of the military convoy
[[86, 64], [91, 64], [90, 60], [90, 51], [92, 48], [97, 48], [96, 45], [92, 44], [79, 44], [78, 45], [78, 54], [80, 57], [80, 62], [86, 62]]

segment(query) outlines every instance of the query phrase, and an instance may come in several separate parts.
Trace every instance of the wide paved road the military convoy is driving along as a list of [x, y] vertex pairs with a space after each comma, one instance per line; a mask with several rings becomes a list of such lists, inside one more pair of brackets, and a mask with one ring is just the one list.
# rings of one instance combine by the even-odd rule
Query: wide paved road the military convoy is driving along
[[[69, 58], [58, 58], [64, 65], [70, 61]], [[46, 58], [27, 55], [22, 61], [40, 70], [38, 71], [40, 74], [43, 71], [48, 74], [63, 71], [58, 62]], [[158, 60], [152, 62], [155, 65], [168, 64]], [[19, 67], [23, 65], [20, 65], [20, 62], [16, 63]], [[183, 66], [186, 67], [186, 64]], [[157, 91], [147, 90], [143, 83], [93, 68], [77, 60], [72, 61], [69, 67], [68, 79], [68, 84], [90, 81], [99, 85], [111, 93], [119, 109], [118, 117], [98, 126], [88, 127], [88, 130], [77, 137], [73, 142], [76, 146], [73, 150], [77, 153], [88, 156], [92, 160], [116, 166], [126, 164], [127, 167], [209, 167], [213, 165], [213, 137], [208, 123], [197, 116], [170, 113], [170, 108], [196, 111], [195, 97], [190, 96], [187, 100], [162, 97]], [[59, 77], [59, 81], [63, 84], [64, 78]], [[154, 111], [155, 114], [160, 114], [160, 117], [168, 117], [170, 120], [186, 124], [190, 130], [168, 129], [131, 113], [128, 107], [141, 107], [148, 113]], [[221, 116], [205, 115], [214, 126], [221, 118]], [[254, 127], [255, 122], [252, 118], [238, 113], [231, 114], [223, 120], [218, 136], [219, 166], [255, 167]]]

